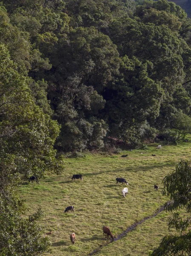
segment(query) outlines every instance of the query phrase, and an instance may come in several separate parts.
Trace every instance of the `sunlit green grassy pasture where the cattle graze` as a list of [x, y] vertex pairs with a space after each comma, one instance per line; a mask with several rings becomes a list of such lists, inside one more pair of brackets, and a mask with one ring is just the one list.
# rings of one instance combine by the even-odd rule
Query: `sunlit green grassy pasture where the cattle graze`
[[[102, 227], [107, 225], [114, 236], [123, 233], [137, 221], [152, 215], [168, 201], [161, 195], [162, 179], [174, 171], [180, 159], [190, 160], [191, 143], [178, 146], [149, 145], [150, 150], [123, 151], [117, 155], [88, 154], [83, 158], [66, 159], [66, 171], [62, 176], [40, 180], [40, 184], [24, 183], [20, 195], [26, 198], [28, 214], [42, 207], [44, 233], [50, 236], [52, 253], [45, 256], [146, 256], [160, 243], [168, 231], [168, 213], [161, 212], [145, 221], [123, 239], [108, 244]], [[143, 154], [141, 154], [141, 152]], [[156, 154], [152, 157], [151, 154]], [[128, 157], [121, 158], [122, 154]], [[82, 174], [83, 181], [71, 181], [73, 174]], [[124, 177], [129, 185], [123, 198], [125, 185], [117, 185], [116, 177]], [[154, 184], [160, 189], [154, 191]], [[74, 213], [64, 213], [74, 205]], [[75, 232], [76, 242], [71, 244], [70, 234]], [[106, 245], [107, 246], [104, 246]]]

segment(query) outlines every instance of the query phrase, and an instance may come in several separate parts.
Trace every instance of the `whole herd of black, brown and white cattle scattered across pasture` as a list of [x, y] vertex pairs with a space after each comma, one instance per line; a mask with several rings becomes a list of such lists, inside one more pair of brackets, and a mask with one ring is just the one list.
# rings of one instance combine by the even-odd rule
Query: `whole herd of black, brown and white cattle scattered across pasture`
[[[161, 145], [158, 145], [158, 146], [157, 146], [157, 149], [161, 149]], [[132, 151], [132, 150], [131, 150], [131, 151]], [[121, 157], [127, 157], [127, 156], [128, 156], [128, 155], [122, 155]], [[152, 154], [152, 156], [155, 156], [155, 154]], [[74, 174], [71, 179], [72, 179], [72, 180], [76, 180], [76, 179], [83, 180], [83, 177], [82, 177], [81, 174]], [[33, 183], [33, 181], [36, 181], [37, 183], [39, 183], [38, 178], [37, 178], [36, 176], [31, 176], [31, 177], [29, 178], [29, 182], [30, 182], [30, 181], [31, 181], [32, 183]], [[118, 184], [118, 183], [122, 183], [122, 185], [123, 185], [123, 184], [128, 185], [128, 182], [127, 182], [124, 178], [116, 178], [116, 183], [117, 183], [117, 184]], [[154, 185], [154, 190], [158, 190], [158, 189], [159, 189], [159, 186]], [[123, 188], [123, 189], [122, 189], [122, 195], [123, 195], [123, 197], [125, 197], [125, 195], [127, 195], [127, 194], [128, 194], [128, 188]], [[72, 205], [72, 206], [66, 207], [66, 209], [65, 209], [64, 212], [68, 212], [69, 210], [71, 210], [71, 212], [74, 212], [74, 206]], [[51, 233], [52, 233], [52, 231], [49, 232], [49, 233], [46, 233], [46, 235], [51, 235]], [[103, 226], [103, 235], [106, 235], [107, 237], [108, 237], [108, 236], [111, 236], [111, 239], [114, 240], [114, 236], [112, 235], [112, 233], [111, 233], [109, 227], [107, 227], [107, 226]], [[75, 239], [76, 239], [76, 235], [75, 235], [75, 233], [72, 233], [72, 234], [70, 235], [70, 240], [71, 240], [72, 244], [74, 244]]]

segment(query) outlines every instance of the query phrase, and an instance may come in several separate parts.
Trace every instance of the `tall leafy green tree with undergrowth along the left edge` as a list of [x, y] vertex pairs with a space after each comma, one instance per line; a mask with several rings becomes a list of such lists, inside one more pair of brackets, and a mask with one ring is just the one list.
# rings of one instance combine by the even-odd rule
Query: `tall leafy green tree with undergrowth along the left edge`
[[36, 213], [23, 218], [25, 207], [17, 185], [34, 174], [61, 173], [53, 148], [59, 125], [35, 104], [30, 79], [17, 71], [8, 50], [0, 45], [0, 255], [41, 255], [50, 247], [42, 237]]

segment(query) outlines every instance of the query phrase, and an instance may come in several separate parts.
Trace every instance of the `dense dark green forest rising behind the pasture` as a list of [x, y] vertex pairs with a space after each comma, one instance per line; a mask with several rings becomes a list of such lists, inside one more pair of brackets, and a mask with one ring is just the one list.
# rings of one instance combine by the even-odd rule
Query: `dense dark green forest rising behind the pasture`
[[6, 0], [0, 12], [0, 43], [35, 104], [61, 125], [59, 151], [190, 129], [191, 20], [180, 6]]

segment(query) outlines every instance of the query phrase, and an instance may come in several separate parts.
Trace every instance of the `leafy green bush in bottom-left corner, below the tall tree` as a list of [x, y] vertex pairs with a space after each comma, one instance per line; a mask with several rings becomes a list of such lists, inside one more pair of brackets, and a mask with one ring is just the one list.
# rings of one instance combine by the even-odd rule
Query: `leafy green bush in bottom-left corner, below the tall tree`
[[22, 218], [23, 203], [13, 193], [1, 190], [0, 255], [42, 255], [51, 245], [47, 237], [41, 236], [42, 227], [38, 224], [43, 212], [38, 209], [28, 218]]

